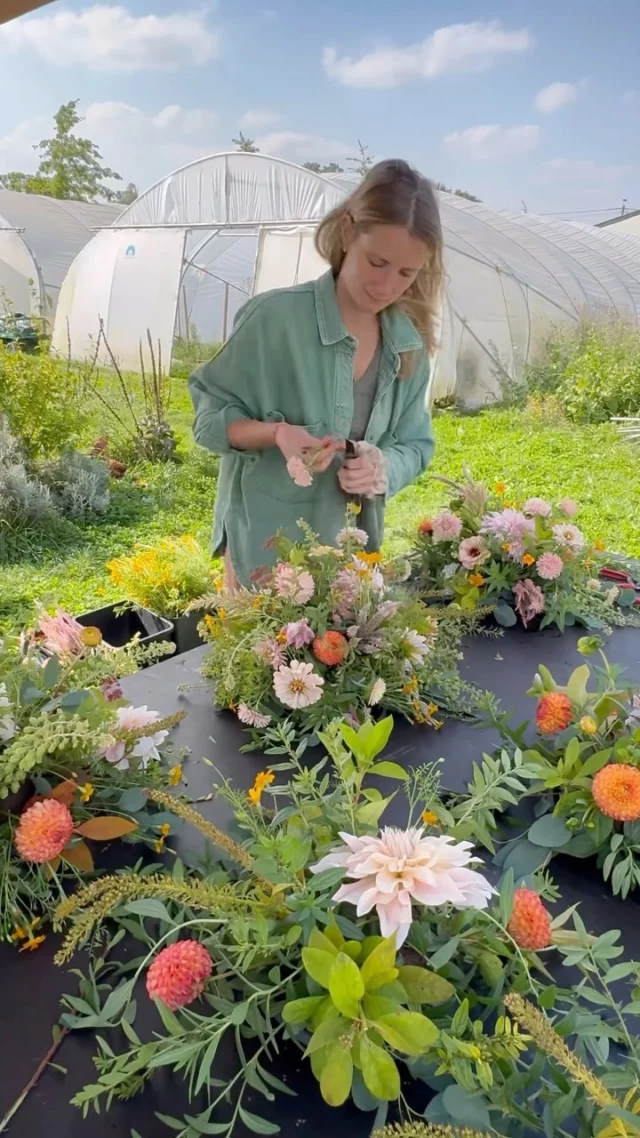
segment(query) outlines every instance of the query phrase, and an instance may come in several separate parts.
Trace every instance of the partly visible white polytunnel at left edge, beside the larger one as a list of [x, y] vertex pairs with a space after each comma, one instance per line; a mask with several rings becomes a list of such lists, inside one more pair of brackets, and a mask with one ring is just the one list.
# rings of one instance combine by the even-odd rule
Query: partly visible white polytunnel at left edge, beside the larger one
[[96, 229], [110, 224], [121, 211], [16, 193], [0, 184], [0, 313], [23, 312], [52, 323], [69, 265]]

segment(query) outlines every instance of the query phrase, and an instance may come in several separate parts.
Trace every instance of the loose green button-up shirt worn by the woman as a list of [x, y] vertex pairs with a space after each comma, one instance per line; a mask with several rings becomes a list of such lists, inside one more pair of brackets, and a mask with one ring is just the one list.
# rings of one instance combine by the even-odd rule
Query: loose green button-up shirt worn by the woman
[[[428, 361], [412, 321], [399, 308], [381, 314], [378, 389], [364, 439], [386, 459], [388, 496], [412, 483], [433, 454], [426, 405]], [[273, 563], [265, 549], [281, 530], [296, 539], [304, 519], [322, 544], [335, 544], [347, 498], [337, 480], [340, 459], [310, 487], [296, 486], [277, 447], [236, 451], [227, 428], [238, 419], [294, 423], [322, 438], [348, 438], [353, 420], [356, 341], [346, 331], [331, 272], [317, 281], [254, 297], [238, 313], [230, 339], [189, 381], [196, 442], [222, 455], [213, 552], [227, 547], [240, 583]], [[401, 355], [416, 353], [413, 374], [400, 379]], [[369, 551], [383, 541], [385, 497], [364, 503], [359, 526]]]

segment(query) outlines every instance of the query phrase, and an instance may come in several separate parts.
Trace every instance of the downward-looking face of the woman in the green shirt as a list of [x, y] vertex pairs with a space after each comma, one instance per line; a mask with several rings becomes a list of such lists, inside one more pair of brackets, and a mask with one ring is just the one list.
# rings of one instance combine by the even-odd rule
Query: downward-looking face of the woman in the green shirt
[[378, 313], [407, 291], [425, 265], [429, 250], [403, 225], [374, 225], [367, 233], [353, 233], [345, 217], [343, 244], [346, 256], [340, 281], [353, 304], [362, 312]]

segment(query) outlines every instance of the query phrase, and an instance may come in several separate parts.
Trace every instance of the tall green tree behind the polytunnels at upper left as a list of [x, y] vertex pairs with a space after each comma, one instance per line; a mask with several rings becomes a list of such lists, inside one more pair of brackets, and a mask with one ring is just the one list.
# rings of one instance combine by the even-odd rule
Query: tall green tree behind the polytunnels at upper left
[[40, 155], [35, 174], [13, 171], [0, 175], [7, 189], [23, 193], [46, 193], [50, 198], [66, 198], [76, 201], [95, 201], [97, 198], [114, 197], [114, 190], [106, 185], [109, 179], [122, 181], [120, 174], [109, 166], [102, 166], [102, 156], [91, 139], [73, 133], [81, 123], [77, 113], [80, 99], [65, 102], [54, 115], [56, 131], [54, 138], [42, 139], [34, 146]]

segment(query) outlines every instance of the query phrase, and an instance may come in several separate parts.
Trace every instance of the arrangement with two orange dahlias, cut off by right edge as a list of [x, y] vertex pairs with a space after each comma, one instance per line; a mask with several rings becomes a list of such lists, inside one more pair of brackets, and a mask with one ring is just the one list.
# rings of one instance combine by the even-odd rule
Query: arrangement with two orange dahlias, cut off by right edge
[[[516, 864], [531, 855], [540, 866], [556, 852], [594, 856], [614, 893], [626, 897], [640, 885], [640, 687], [621, 684], [597, 637], [583, 636], [579, 651], [601, 657], [593, 687], [583, 663], [565, 685], [541, 665], [530, 688], [538, 739], [526, 758], [539, 777], [527, 793], [536, 797], [536, 820], [525, 844], [509, 844], [501, 857]], [[492, 721], [523, 745], [524, 728], [514, 729], [510, 716]]]

